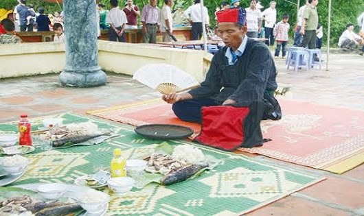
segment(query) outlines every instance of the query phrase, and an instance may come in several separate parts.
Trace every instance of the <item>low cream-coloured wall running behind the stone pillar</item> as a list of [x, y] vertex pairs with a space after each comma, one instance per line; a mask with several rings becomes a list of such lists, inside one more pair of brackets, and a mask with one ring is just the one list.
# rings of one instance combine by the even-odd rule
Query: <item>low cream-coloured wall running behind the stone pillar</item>
[[[150, 63], [179, 67], [201, 82], [212, 55], [204, 51], [157, 47], [148, 44], [115, 43], [98, 40], [99, 64], [105, 71], [133, 75]], [[59, 73], [65, 66], [62, 43], [22, 43], [1, 45], [0, 78]]]

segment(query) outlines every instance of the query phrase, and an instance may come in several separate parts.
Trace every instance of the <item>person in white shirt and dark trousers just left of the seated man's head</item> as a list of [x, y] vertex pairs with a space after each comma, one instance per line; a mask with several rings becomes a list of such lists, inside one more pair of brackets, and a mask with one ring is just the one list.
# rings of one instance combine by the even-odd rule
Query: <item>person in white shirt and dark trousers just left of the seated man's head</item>
[[207, 12], [207, 8], [204, 6], [203, 12], [201, 13], [200, 0], [194, 0], [194, 5], [188, 7], [183, 14], [192, 23], [192, 40], [200, 40], [203, 34], [203, 21], [205, 21], [205, 28], [209, 28], [209, 13]]

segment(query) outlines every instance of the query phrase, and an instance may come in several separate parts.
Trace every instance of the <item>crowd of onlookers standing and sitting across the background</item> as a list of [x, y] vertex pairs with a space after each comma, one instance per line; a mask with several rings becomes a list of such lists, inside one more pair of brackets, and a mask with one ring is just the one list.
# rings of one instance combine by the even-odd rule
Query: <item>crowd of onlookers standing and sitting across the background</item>
[[[264, 1], [264, 0], [263, 0]], [[323, 25], [319, 21], [320, 10], [317, 10], [318, 1], [307, 0], [306, 4], [299, 8], [297, 21], [295, 21], [295, 11], [283, 11], [278, 8], [284, 8], [284, 4], [277, 4], [271, 1], [266, 4], [257, 0], [231, 0], [223, 1], [216, 8], [214, 14], [219, 10], [225, 10], [231, 7], [242, 7], [247, 12], [247, 35], [251, 38], [266, 38], [266, 45], [275, 45], [275, 56], [285, 56], [285, 47], [288, 43], [293, 43], [294, 46], [304, 46], [312, 48], [321, 48], [323, 33]], [[173, 2], [172, 0], [163, 0], [163, 5], [160, 1], [150, 0], [148, 4], [139, 8], [133, 0], [117, 1], [111, 0], [107, 3], [98, 3], [98, 22], [100, 29], [109, 29], [110, 40], [125, 41], [124, 30], [128, 28], [142, 29], [143, 42], [155, 43], [157, 34], [163, 35], [163, 41], [170, 41], [170, 35], [173, 34], [174, 27], [183, 25], [192, 26], [192, 40], [201, 39], [203, 26], [206, 24], [209, 36], [213, 37], [214, 25], [216, 17], [211, 14], [212, 8], [203, 8], [201, 14], [200, 1], [195, 0], [188, 5], [188, 2]], [[320, 1], [321, 2], [321, 1]], [[159, 5], [158, 5], [159, 3]], [[312, 6], [310, 6], [312, 5]], [[247, 6], [247, 7], [245, 7]], [[277, 9], [276, 9], [277, 8]], [[306, 8], [315, 8], [315, 21], [311, 19], [302, 19]], [[313, 10], [308, 12], [312, 14]], [[352, 20], [350, 23], [341, 23], [342, 35], [335, 38], [334, 41], [339, 47], [346, 50], [354, 50], [360, 48], [363, 51], [363, 14], [359, 14], [357, 21]], [[290, 21], [291, 17], [291, 21]], [[54, 24], [60, 23], [63, 27], [65, 17], [61, 11], [45, 11], [42, 7], [36, 7], [25, 0], [18, 0], [18, 4], [14, 5], [12, 20], [14, 22], [15, 31], [52, 31]], [[316, 20], [317, 19], [317, 20]], [[292, 23], [295, 21], [295, 25]], [[306, 29], [302, 27], [303, 22]], [[308, 23], [306, 23], [308, 21]], [[291, 25], [289, 24], [291, 23]], [[317, 23], [317, 24], [316, 24]], [[356, 30], [356, 25], [361, 28], [361, 31]], [[57, 25], [58, 26], [58, 25]], [[1, 27], [3, 29], [3, 27]], [[2, 30], [2, 32], [5, 32]], [[100, 31], [99, 31], [100, 35]], [[289, 40], [290, 38], [291, 41]], [[305, 40], [304, 40], [305, 39]], [[315, 41], [314, 41], [315, 40]]]

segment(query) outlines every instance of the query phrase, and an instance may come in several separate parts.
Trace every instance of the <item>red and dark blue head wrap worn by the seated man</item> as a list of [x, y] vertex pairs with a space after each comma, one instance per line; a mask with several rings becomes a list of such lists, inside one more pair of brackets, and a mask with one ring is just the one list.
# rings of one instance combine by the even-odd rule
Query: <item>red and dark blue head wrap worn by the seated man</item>
[[243, 8], [229, 8], [216, 13], [218, 23], [238, 23], [245, 25], [247, 12]]

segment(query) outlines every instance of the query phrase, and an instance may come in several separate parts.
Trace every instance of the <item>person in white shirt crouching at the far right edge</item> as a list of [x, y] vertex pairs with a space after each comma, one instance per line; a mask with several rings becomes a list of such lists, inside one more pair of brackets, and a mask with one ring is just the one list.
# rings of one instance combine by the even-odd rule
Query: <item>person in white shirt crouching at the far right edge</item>
[[359, 45], [364, 45], [364, 39], [361, 36], [353, 32], [354, 24], [346, 25], [346, 30], [341, 34], [339, 38], [339, 47], [343, 49], [354, 50], [359, 47]]

